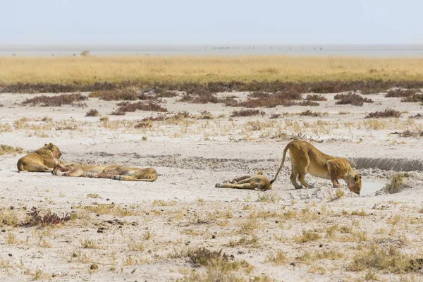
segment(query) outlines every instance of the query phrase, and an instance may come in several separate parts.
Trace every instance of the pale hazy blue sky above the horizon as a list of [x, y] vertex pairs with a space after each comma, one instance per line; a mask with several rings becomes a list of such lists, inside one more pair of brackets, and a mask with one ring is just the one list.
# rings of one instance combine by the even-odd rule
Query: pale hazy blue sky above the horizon
[[0, 44], [422, 44], [421, 0], [0, 0]]

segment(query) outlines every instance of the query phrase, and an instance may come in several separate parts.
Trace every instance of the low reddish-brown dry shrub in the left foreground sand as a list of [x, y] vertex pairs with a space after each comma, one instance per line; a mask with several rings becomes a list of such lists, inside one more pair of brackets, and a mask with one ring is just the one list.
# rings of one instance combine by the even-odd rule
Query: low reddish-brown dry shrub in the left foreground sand
[[32, 207], [30, 212], [27, 212], [27, 220], [21, 223], [20, 226], [54, 226], [70, 220], [71, 216], [69, 214], [58, 216], [57, 214], [52, 213], [50, 210], [43, 212], [36, 207]]

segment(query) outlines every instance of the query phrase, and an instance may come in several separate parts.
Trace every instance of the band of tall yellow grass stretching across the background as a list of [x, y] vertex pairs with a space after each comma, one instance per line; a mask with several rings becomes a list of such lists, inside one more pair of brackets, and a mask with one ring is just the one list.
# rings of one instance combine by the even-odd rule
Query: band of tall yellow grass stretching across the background
[[290, 56], [0, 58], [0, 85], [93, 82], [421, 80], [422, 59]]

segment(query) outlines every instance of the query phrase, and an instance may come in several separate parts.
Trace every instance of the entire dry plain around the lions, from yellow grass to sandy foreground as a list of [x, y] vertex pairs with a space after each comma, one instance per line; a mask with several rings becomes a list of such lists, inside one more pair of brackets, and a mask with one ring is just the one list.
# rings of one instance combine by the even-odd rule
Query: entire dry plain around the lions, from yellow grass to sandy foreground
[[[423, 59], [0, 58], [1, 281], [422, 281]], [[361, 195], [290, 159], [266, 192], [215, 188], [307, 140]], [[152, 182], [18, 173], [148, 167]]]

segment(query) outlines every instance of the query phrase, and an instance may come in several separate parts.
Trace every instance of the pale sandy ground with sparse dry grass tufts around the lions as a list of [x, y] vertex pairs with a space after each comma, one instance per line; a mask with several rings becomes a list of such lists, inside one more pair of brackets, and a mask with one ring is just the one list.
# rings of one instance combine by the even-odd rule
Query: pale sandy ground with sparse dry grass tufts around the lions
[[[278, 106], [240, 118], [230, 118], [239, 108], [166, 98], [161, 104], [170, 113], [209, 111], [215, 118], [134, 128], [157, 114], [109, 116], [116, 102], [96, 98], [83, 107], [21, 106], [34, 94], [0, 94], [0, 144], [34, 150], [53, 142], [65, 161], [154, 166], [159, 173], [154, 183], [18, 173], [23, 154], [0, 156], [1, 281], [197, 281], [198, 274], [217, 281], [216, 269], [187, 255], [198, 247], [222, 250], [228, 262], [240, 264], [225, 272], [228, 281], [421, 281], [418, 270], [354, 266], [374, 244], [423, 258], [423, 137], [393, 134], [421, 130], [423, 120], [409, 117], [423, 114], [423, 106], [383, 94], [367, 95], [374, 103], [364, 106], [336, 105], [334, 94], [324, 96], [320, 106]], [[403, 111], [401, 118], [364, 119], [387, 107]], [[109, 121], [85, 117], [88, 109]], [[300, 116], [306, 109], [324, 115]], [[281, 116], [269, 118], [276, 113]], [[41, 121], [46, 116], [51, 121]], [[259, 170], [273, 177], [283, 148], [299, 134], [323, 152], [357, 161], [362, 195], [312, 176], [316, 188], [294, 190], [289, 161], [269, 192], [214, 188]], [[390, 170], [381, 169], [389, 162]], [[401, 169], [410, 171], [406, 189], [376, 195]], [[72, 219], [58, 226], [11, 223], [25, 221], [32, 207]], [[318, 238], [302, 242], [308, 231]], [[271, 259], [277, 251], [283, 262]]]

